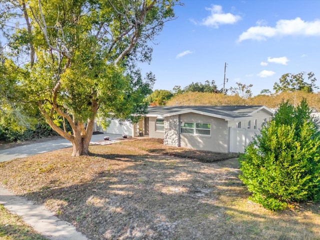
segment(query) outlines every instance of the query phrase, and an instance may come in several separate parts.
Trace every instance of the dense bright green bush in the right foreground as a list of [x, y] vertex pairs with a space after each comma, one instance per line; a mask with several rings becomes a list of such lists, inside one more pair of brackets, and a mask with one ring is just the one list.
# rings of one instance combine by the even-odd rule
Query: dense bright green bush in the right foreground
[[240, 157], [251, 199], [271, 210], [320, 200], [320, 132], [305, 100], [282, 102]]

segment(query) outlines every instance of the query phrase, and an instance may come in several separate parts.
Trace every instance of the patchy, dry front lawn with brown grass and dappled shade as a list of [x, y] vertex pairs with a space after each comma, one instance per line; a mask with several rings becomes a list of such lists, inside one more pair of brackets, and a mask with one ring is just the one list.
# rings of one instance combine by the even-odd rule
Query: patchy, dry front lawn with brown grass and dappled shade
[[248, 201], [232, 154], [153, 139], [71, 151], [0, 163], [0, 184], [92, 240], [320, 239], [320, 203], [271, 212]]

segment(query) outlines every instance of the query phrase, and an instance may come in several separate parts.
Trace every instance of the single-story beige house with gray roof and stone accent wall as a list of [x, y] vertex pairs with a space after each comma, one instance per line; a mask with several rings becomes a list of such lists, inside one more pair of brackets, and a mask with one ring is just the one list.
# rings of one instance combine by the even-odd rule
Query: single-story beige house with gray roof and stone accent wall
[[162, 138], [170, 146], [243, 152], [272, 114], [261, 105], [150, 106], [138, 123], [112, 120], [106, 132]]

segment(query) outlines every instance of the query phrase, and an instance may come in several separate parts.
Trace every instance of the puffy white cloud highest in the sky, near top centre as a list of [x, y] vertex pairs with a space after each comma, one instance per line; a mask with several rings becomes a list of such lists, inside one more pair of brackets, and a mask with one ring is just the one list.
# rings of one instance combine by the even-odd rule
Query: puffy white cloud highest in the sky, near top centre
[[201, 25], [218, 28], [221, 24], [233, 24], [241, 19], [239, 15], [233, 15], [230, 12], [224, 13], [220, 5], [211, 5], [211, 7], [205, 7], [205, 9], [211, 11], [211, 15], [203, 18], [200, 22]]

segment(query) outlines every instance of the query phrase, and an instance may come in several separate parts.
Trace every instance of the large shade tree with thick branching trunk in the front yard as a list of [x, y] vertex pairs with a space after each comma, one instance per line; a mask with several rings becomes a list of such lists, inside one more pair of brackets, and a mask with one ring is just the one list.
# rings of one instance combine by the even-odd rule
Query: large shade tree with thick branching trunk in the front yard
[[151, 59], [148, 42], [174, 18], [174, 4], [0, 0], [8, 56], [22, 72], [19, 97], [36, 104], [46, 122], [72, 143], [73, 156], [88, 154], [97, 114], [134, 120], [132, 115], [145, 112], [142, 99], [151, 92], [154, 76], [143, 78], [136, 61]]

